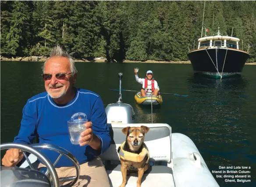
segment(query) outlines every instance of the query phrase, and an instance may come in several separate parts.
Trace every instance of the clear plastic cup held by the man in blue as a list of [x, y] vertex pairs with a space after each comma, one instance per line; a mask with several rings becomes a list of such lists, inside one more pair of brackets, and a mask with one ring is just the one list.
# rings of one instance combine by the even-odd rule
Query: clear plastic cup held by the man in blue
[[77, 119], [68, 121], [68, 134], [71, 141], [71, 144], [78, 145], [80, 144], [79, 138], [81, 138], [81, 133], [86, 130], [85, 123], [88, 120]]

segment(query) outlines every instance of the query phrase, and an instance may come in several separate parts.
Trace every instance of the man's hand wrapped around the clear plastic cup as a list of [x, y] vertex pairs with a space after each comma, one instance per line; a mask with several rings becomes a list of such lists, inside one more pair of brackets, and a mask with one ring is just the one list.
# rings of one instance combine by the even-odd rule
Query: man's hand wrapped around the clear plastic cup
[[95, 150], [100, 150], [101, 142], [98, 136], [92, 133], [92, 122], [87, 122], [84, 124], [86, 130], [81, 133], [81, 137], [79, 138], [80, 146], [84, 146], [86, 144], [90, 145]]

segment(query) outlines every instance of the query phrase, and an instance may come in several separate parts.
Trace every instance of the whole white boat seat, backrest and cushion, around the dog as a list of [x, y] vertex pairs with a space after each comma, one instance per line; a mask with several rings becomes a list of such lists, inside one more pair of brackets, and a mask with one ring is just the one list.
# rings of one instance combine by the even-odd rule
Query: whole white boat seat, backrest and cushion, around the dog
[[[145, 136], [144, 143], [149, 149], [151, 166], [143, 174], [141, 187], [174, 187], [173, 170], [171, 168], [171, 127], [164, 123], [108, 124], [112, 141], [110, 148], [100, 157], [105, 163], [110, 187], [119, 187], [123, 180], [120, 158], [117, 153], [118, 147], [126, 139], [126, 135], [121, 130], [128, 126], [140, 127], [142, 125], [150, 128]], [[135, 187], [137, 180], [138, 173], [130, 173], [130, 176], [127, 176], [125, 187]]]

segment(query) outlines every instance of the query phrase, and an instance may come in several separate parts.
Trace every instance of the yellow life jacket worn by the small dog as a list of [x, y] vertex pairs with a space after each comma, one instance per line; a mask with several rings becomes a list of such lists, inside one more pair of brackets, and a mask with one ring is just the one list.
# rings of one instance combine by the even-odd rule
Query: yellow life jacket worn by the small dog
[[148, 155], [148, 159], [147, 159], [146, 163], [149, 162], [149, 157], [150, 157], [149, 149], [147, 148], [145, 143], [143, 143], [142, 152], [140, 152], [139, 154], [124, 151], [124, 144], [125, 144], [125, 141], [122, 143], [122, 145], [120, 146], [120, 150], [119, 150], [119, 156], [121, 159], [132, 161], [132, 162], [142, 162], [142, 160], [145, 158], [145, 156]]

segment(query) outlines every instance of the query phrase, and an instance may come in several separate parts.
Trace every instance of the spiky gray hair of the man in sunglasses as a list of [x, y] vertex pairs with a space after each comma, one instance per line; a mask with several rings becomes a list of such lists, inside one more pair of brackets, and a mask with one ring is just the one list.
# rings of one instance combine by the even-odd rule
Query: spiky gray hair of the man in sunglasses
[[73, 53], [70, 53], [68, 54], [66, 51], [64, 51], [60, 46], [56, 46], [52, 49], [51, 51], [51, 55], [50, 57], [45, 61], [45, 63], [43, 64], [42, 66], [42, 69], [43, 69], [43, 73], [44, 73], [44, 68], [45, 68], [45, 64], [46, 62], [51, 58], [51, 57], [54, 57], [54, 56], [58, 56], [58, 57], [66, 57], [68, 58], [69, 62], [70, 62], [70, 71], [72, 73], [72, 75], [76, 74], [78, 71], [76, 70], [75, 68], [75, 62], [72, 58], [72, 55]]

